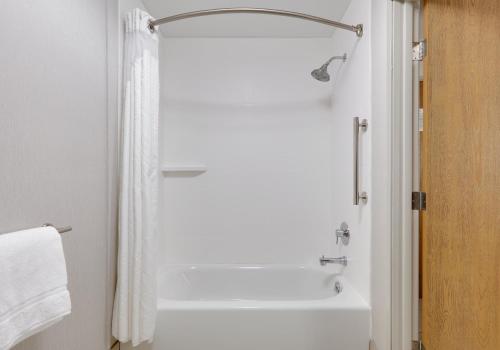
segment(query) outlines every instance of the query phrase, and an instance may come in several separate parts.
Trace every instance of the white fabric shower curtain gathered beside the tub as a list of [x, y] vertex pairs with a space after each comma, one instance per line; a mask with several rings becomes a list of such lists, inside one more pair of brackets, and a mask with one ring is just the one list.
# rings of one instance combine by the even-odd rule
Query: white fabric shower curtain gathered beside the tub
[[151, 17], [125, 19], [118, 280], [113, 335], [135, 346], [153, 339], [156, 320], [158, 207], [158, 35]]

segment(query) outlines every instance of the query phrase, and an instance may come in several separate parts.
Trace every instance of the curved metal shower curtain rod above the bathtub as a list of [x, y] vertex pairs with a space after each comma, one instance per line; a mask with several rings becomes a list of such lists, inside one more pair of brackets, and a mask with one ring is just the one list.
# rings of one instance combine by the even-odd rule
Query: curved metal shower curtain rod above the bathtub
[[252, 7], [234, 7], [234, 8], [220, 8], [220, 9], [210, 9], [210, 10], [200, 10], [193, 12], [181, 13], [174, 16], [159, 18], [149, 22], [149, 29], [154, 32], [155, 27], [160, 24], [170, 23], [174, 21], [179, 21], [181, 19], [194, 18], [194, 17], [203, 17], [210, 15], [221, 15], [228, 13], [251, 13], [251, 14], [264, 14], [264, 15], [275, 15], [275, 16], [284, 16], [284, 17], [293, 17], [299, 18], [306, 21], [317, 22], [321, 24], [325, 24], [327, 26], [336, 27], [340, 29], [349, 30], [351, 32], [356, 33], [358, 37], [363, 36], [363, 25], [349, 25], [341, 22], [332, 21], [322, 17], [316, 17], [307, 15], [305, 13], [300, 12], [291, 12], [284, 10], [275, 10], [275, 9], [264, 9], [264, 8], [252, 8]]

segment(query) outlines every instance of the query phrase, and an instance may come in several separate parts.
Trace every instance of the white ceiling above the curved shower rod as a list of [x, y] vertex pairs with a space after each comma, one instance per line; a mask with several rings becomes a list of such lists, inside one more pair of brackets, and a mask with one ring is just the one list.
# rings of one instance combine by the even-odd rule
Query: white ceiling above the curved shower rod
[[[342, 19], [351, 0], [143, 0], [155, 18], [220, 7], [265, 7]], [[356, 23], [349, 23], [356, 24]], [[272, 15], [226, 14], [163, 24], [169, 37], [330, 37], [322, 24]]]

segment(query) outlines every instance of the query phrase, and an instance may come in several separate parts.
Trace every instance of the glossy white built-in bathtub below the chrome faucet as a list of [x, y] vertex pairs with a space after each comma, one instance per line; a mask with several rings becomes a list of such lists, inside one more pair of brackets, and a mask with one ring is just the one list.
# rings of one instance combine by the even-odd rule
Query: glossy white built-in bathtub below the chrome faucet
[[326, 271], [170, 266], [159, 276], [155, 340], [141, 349], [367, 350], [368, 305], [347, 281]]

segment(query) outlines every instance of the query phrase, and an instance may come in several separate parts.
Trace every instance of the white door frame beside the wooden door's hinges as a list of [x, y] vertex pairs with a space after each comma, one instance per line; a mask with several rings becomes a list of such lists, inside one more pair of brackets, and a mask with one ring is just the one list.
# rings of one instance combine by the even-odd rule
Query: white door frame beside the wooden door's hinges
[[[418, 190], [414, 164], [414, 128], [418, 127], [414, 89], [415, 9], [418, 2], [392, 1], [391, 38], [391, 349], [412, 350], [419, 336], [418, 213], [412, 192]], [[418, 75], [417, 75], [418, 78]], [[415, 97], [417, 100], [415, 100]], [[418, 104], [417, 104], [418, 108]], [[418, 112], [418, 109], [417, 109]], [[418, 132], [418, 129], [417, 129]], [[415, 148], [416, 147], [416, 148]], [[416, 265], [416, 266], [415, 266]]]

